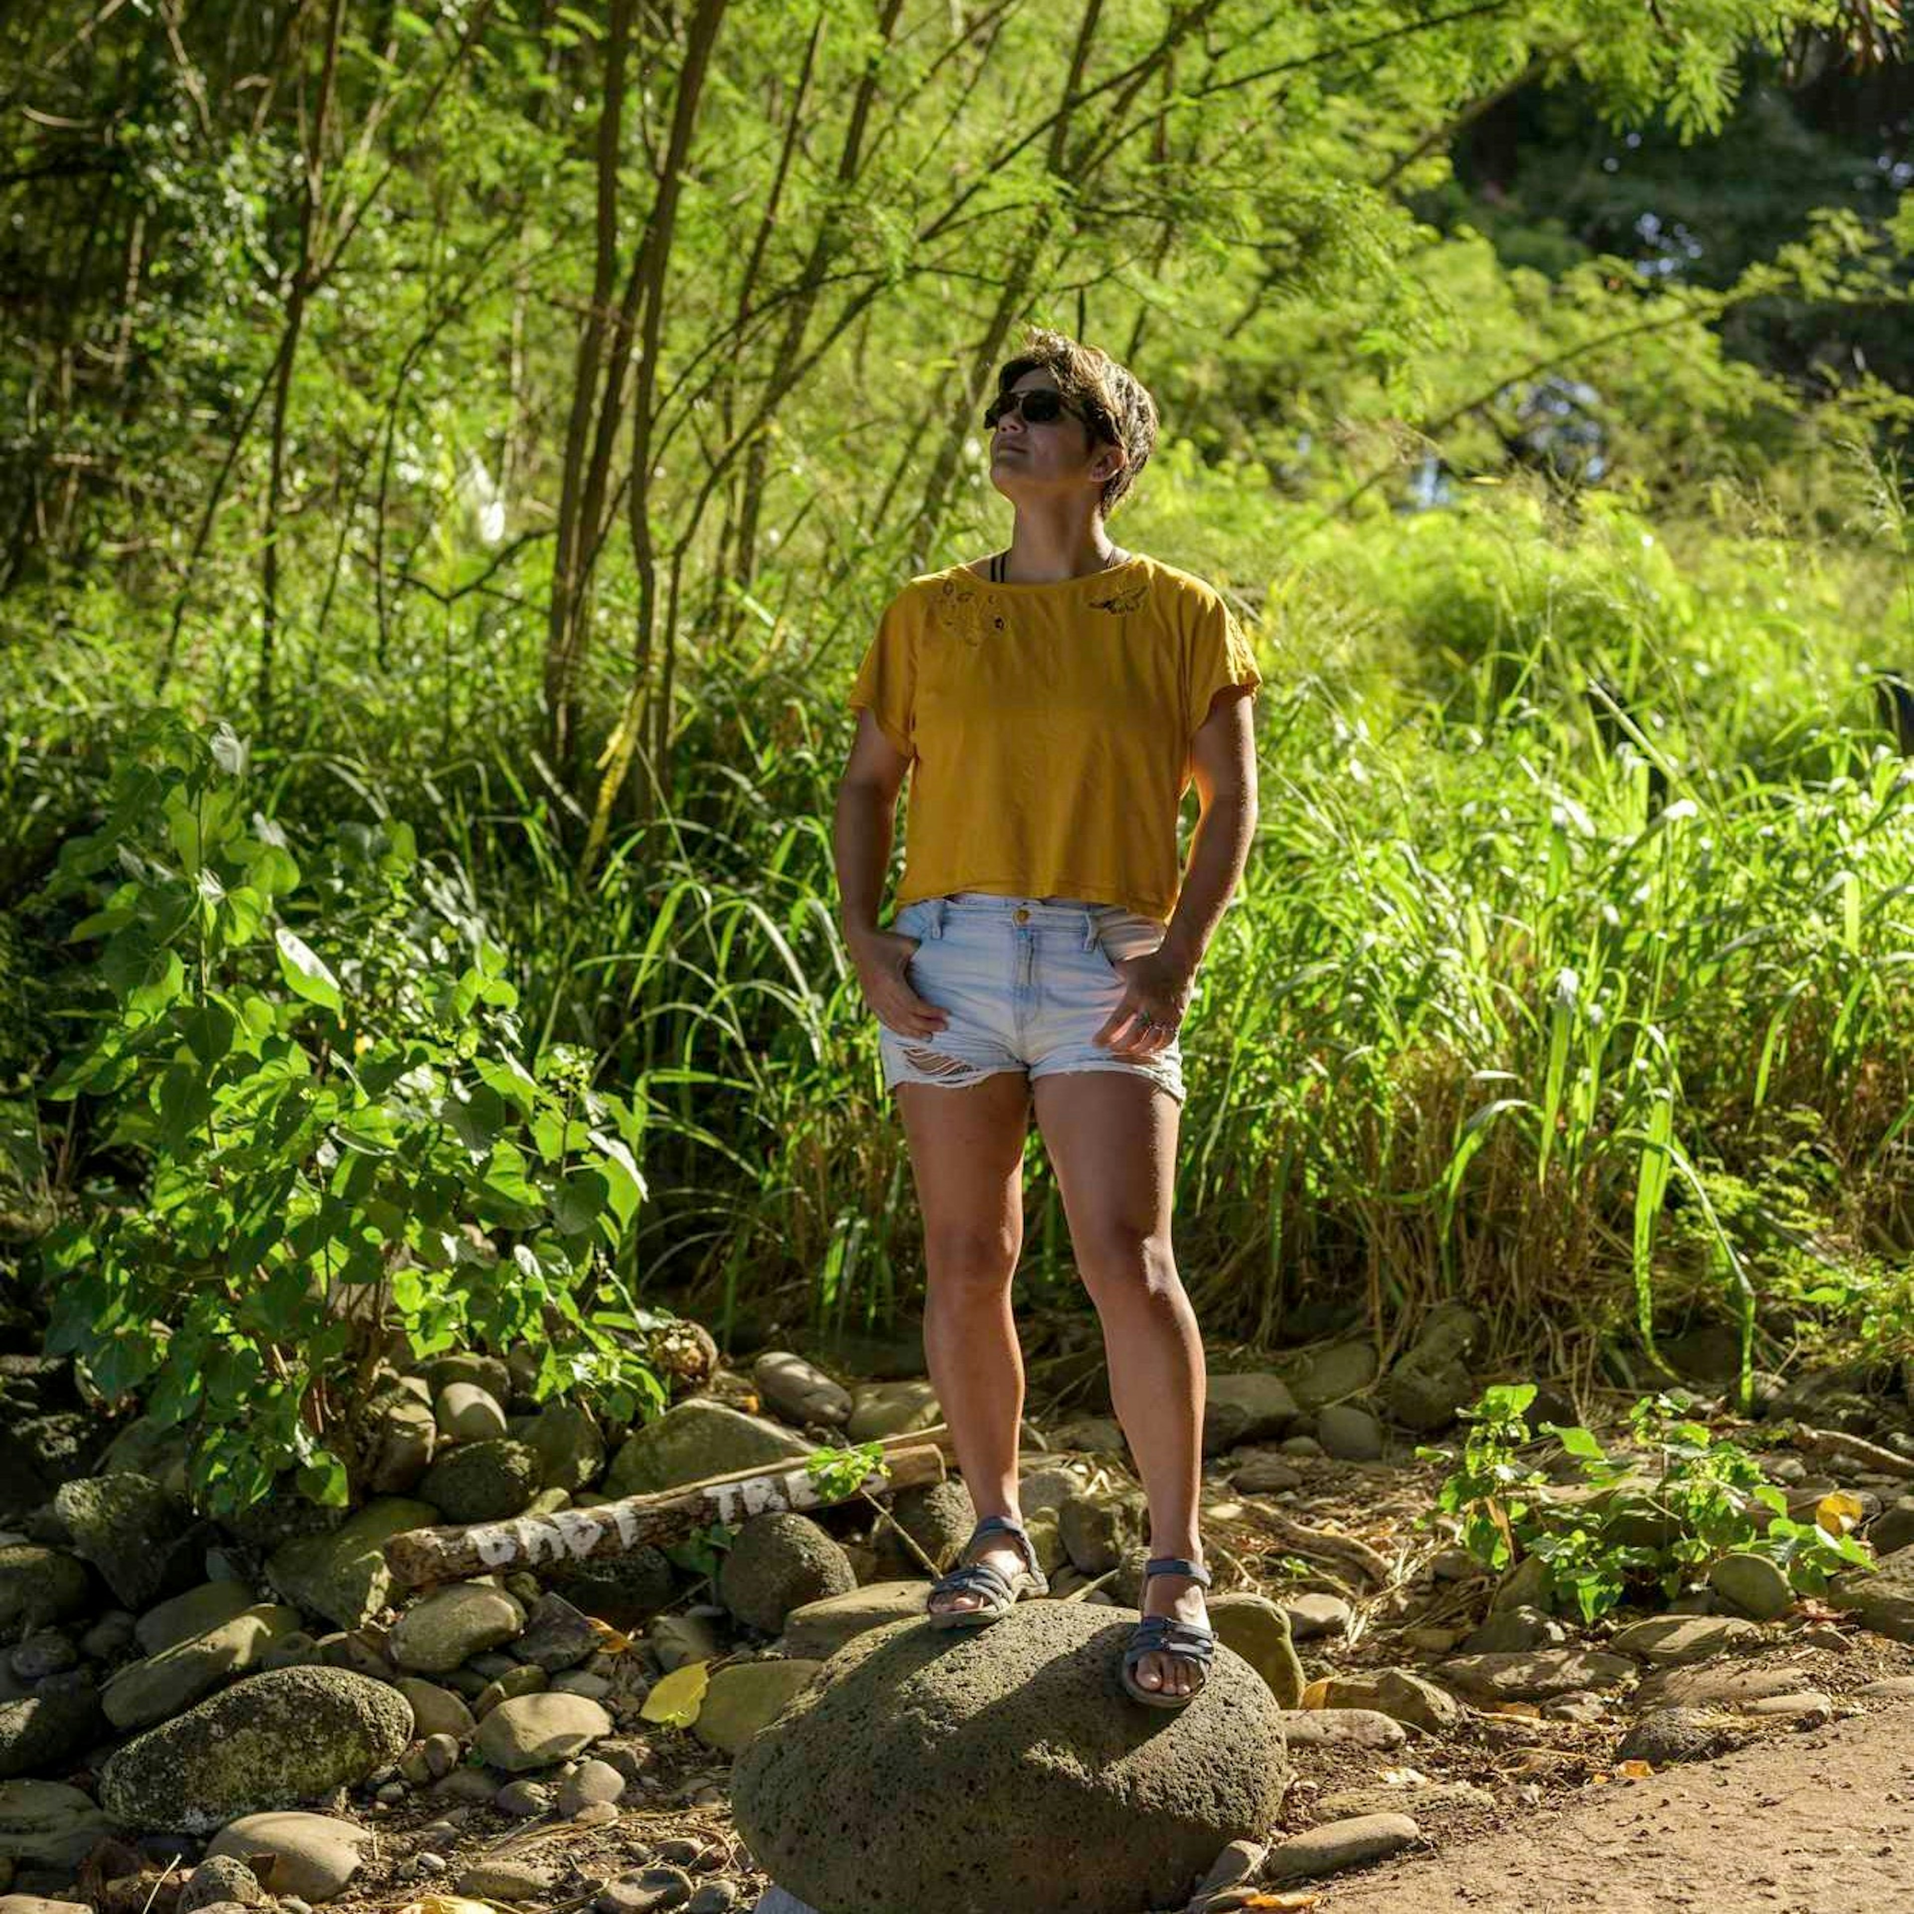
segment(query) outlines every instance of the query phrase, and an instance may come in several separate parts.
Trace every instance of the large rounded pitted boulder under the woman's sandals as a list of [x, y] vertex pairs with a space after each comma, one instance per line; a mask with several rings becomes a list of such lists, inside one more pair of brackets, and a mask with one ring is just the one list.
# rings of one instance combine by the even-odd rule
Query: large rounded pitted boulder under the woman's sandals
[[1181, 1906], [1219, 1849], [1267, 1836], [1282, 1726], [1221, 1644], [1187, 1707], [1133, 1702], [1118, 1680], [1133, 1627], [1020, 1602], [974, 1633], [859, 1635], [745, 1747], [739, 1834], [831, 1914]]

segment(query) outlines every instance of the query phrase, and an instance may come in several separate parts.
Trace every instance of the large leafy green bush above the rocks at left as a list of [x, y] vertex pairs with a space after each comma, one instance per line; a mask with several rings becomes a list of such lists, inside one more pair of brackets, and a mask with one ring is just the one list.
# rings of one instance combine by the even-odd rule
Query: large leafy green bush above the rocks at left
[[523, 1057], [501, 951], [406, 825], [295, 857], [232, 729], [155, 716], [61, 848], [65, 896], [96, 905], [73, 936], [100, 1001], [42, 1097], [94, 1099], [144, 1196], [101, 1191], [48, 1236], [48, 1347], [193, 1432], [207, 1508], [283, 1468], [346, 1499], [389, 1324], [412, 1359], [526, 1340], [540, 1397], [662, 1405], [611, 1263], [645, 1196], [637, 1120], [580, 1051]]

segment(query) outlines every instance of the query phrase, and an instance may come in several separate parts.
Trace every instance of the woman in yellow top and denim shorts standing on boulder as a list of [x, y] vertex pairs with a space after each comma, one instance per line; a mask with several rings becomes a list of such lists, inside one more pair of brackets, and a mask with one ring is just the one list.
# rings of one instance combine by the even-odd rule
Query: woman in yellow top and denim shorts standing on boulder
[[[924, 1215], [924, 1355], [982, 1516], [928, 1612], [970, 1627], [1049, 1592], [1018, 1506], [1011, 1315], [1034, 1104], [1150, 1504], [1124, 1686], [1179, 1707], [1215, 1636], [1196, 1533], [1202, 1338], [1169, 1242], [1177, 1034], [1256, 829], [1261, 676], [1212, 586], [1104, 530], [1156, 442], [1137, 379], [1034, 331], [984, 425], [1011, 544], [913, 578], [884, 612], [848, 701], [861, 714], [835, 823], [844, 940]], [[900, 907], [879, 928], [907, 771]]]

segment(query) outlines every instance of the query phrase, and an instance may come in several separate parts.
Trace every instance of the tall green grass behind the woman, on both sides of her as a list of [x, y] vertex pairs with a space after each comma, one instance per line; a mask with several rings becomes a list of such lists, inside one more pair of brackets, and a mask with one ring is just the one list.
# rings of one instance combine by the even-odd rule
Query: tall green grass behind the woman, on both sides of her
[[[1820, 544], [1520, 482], [1305, 532], [1179, 448], [1152, 480], [1122, 536], [1235, 590], [1267, 678], [1257, 840], [1185, 1030], [1177, 1250], [1206, 1328], [1263, 1344], [1346, 1296], [1388, 1349], [1458, 1296], [1508, 1361], [1589, 1367], [1702, 1311], [1746, 1370], [1790, 1334], [1770, 1300], [1904, 1265], [1914, 773], [1872, 683], [1914, 664], [1899, 480], [1874, 471], [1874, 517]], [[590, 884], [536, 752], [528, 611], [434, 616], [385, 676], [314, 653], [255, 735], [295, 833], [406, 815], [511, 947], [526, 1028], [647, 1112], [628, 1275], [720, 1326], [880, 1323], [919, 1280], [829, 844], [838, 695], [890, 590], [701, 651], [676, 798]], [[17, 880], [84, 810], [151, 641], [69, 622], [0, 664]], [[182, 701], [243, 683], [243, 643], [199, 634]], [[1030, 1154], [1026, 1292], [1066, 1298]]]

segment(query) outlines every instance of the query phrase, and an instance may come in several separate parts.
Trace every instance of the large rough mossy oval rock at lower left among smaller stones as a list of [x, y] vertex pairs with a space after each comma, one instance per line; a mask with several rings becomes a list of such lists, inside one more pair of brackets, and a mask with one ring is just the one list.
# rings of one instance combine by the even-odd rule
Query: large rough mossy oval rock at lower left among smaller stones
[[100, 1770], [128, 1828], [207, 1834], [354, 1786], [412, 1740], [412, 1703], [350, 1669], [268, 1669], [130, 1740]]

